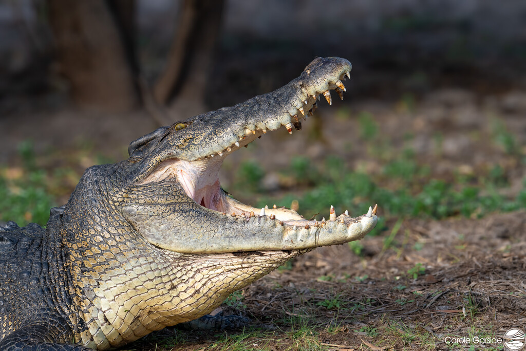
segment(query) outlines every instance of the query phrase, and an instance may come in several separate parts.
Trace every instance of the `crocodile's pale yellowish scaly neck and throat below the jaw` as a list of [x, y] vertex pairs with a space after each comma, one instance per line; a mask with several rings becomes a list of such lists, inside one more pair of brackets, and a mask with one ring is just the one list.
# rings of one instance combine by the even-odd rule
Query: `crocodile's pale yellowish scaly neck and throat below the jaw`
[[[81, 183], [110, 168], [94, 169]], [[83, 188], [89, 193], [74, 194], [62, 220], [85, 346], [119, 347], [199, 318], [290, 259], [282, 252], [192, 255], [156, 247], [113, 206], [95, 203], [105, 198], [104, 187], [77, 187]]]

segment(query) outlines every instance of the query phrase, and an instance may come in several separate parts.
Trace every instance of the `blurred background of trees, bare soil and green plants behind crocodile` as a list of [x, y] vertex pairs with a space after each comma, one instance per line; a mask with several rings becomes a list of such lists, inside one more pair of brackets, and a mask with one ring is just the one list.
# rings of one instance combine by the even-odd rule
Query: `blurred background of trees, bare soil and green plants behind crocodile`
[[523, 1], [3, 0], [0, 38], [3, 220], [44, 224], [86, 167], [316, 56], [353, 64], [345, 101], [230, 156], [237, 198], [306, 217], [379, 203], [378, 230], [526, 206]]

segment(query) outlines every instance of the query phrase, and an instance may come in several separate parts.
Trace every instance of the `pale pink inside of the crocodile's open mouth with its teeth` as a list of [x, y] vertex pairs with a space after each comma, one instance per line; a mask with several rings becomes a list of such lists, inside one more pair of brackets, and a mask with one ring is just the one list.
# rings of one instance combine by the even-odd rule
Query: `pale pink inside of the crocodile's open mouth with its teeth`
[[[340, 79], [348, 77], [348, 73], [342, 73]], [[341, 99], [343, 99], [343, 91], [345, 86], [341, 80], [338, 80], [331, 87], [336, 90]], [[292, 134], [292, 127], [297, 130], [301, 129], [301, 122], [312, 115], [317, 108], [316, 100], [319, 95], [323, 95], [329, 104], [332, 104], [329, 89], [316, 95], [310, 96], [304, 101], [304, 104], [290, 113], [290, 122], [285, 124], [266, 124], [262, 127], [251, 126], [245, 127], [245, 131], [239, 140], [229, 147], [221, 149], [219, 152], [211, 153], [207, 156], [200, 157], [194, 161], [185, 161], [179, 158], [169, 158], [161, 162], [157, 167], [145, 178], [141, 183], [159, 183], [159, 182], [177, 182], [185, 191], [186, 195], [194, 200], [200, 206], [209, 210], [216, 211], [223, 215], [235, 217], [255, 217], [267, 216], [270, 219], [276, 219], [291, 226], [309, 226], [323, 225], [325, 218], [318, 222], [317, 220], [306, 220], [299, 215], [295, 210], [288, 208], [277, 208], [275, 205], [269, 208], [256, 208], [250, 205], [245, 205], [238, 200], [231, 198], [224, 190], [221, 189], [219, 182], [219, 168], [221, 167], [224, 158], [232, 152], [237, 151], [243, 146], [255, 141], [262, 134], [266, 134], [268, 130], [275, 130], [281, 126], [285, 126], [287, 131]], [[308, 112], [307, 112], [308, 111]], [[370, 208], [365, 215], [371, 217], [376, 214], [375, 208]], [[341, 220], [343, 217], [349, 219], [348, 213], [336, 216], [334, 208], [331, 206], [328, 218], [331, 221]]]

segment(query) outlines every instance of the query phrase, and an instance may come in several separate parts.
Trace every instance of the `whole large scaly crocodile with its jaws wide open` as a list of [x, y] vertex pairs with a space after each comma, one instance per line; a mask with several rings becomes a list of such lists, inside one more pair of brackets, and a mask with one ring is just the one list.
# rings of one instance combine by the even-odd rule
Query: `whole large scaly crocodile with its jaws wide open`
[[205, 316], [232, 292], [319, 246], [365, 236], [377, 207], [306, 220], [227, 194], [225, 157], [262, 134], [300, 129], [351, 64], [316, 58], [274, 92], [161, 127], [129, 158], [89, 167], [46, 227], [0, 229], [0, 349], [106, 350]]

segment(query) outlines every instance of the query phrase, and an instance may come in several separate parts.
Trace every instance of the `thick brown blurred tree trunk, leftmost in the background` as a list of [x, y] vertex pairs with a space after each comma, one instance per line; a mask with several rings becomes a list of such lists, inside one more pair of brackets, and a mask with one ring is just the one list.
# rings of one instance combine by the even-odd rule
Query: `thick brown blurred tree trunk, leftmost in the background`
[[[133, 43], [125, 40], [134, 31], [133, 0], [48, 0], [59, 62], [59, 71], [68, 78], [74, 101], [82, 107], [106, 111], [129, 111], [138, 104]], [[125, 8], [116, 11], [112, 8]], [[122, 21], [118, 25], [117, 21]], [[127, 28], [127, 29], [126, 29]], [[129, 39], [129, 38], [128, 38]], [[134, 67], [135, 65], [135, 67]], [[135, 72], [134, 72], [135, 71]]]

